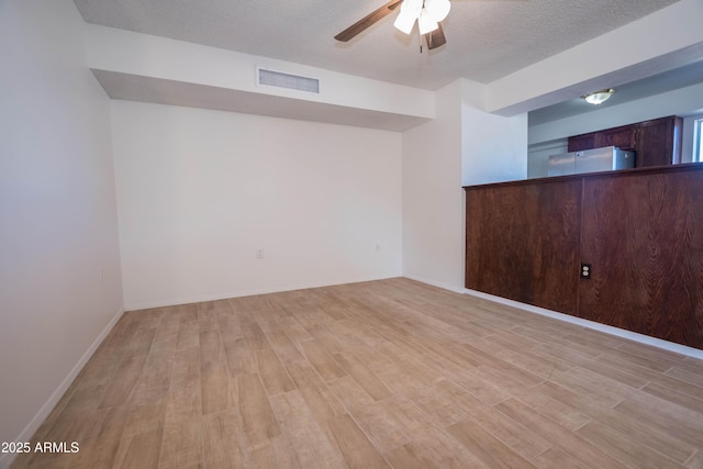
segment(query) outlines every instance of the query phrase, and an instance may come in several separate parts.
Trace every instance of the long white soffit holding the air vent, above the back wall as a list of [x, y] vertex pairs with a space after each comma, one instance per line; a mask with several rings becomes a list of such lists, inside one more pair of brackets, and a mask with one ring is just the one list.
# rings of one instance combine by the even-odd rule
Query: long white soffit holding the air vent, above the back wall
[[[434, 92], [216, 47], [86, 25], [86, 62], [114, 99], [404, 131], [434, 118]], [[316, 92], [258, 83], [260, 70]]]

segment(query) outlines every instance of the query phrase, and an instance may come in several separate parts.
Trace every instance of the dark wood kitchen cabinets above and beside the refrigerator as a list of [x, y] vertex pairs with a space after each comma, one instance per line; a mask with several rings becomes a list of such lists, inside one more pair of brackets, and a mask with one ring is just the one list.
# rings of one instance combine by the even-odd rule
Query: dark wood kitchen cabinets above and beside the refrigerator
[[681, 163], [681, 118], [671, 115], [569, 137], [569, 152], [617, 146], [636, 152], [636, 166]]

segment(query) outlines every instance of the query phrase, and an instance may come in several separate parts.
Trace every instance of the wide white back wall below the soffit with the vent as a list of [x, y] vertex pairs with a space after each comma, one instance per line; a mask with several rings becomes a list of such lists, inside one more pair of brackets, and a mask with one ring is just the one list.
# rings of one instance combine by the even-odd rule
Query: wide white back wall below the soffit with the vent
[[127, 310], [401, 275], [400, 134], [129, 101], [112, 122]]

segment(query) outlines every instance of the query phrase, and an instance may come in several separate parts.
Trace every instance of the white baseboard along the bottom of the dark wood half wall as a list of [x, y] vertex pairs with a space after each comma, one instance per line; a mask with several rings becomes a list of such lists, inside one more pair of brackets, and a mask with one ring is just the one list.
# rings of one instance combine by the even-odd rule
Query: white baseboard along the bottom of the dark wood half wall
[[663, 340], [661, 338], [650, 337], [648, 335], [638, 334], [636, 332], [622, 330], [618, 327], [609, 326], [605, 324], [596, 323], [589, 320], [583, 320], [581, 317], [570, 316], [569, 314], [558, 313], [551, 310], [545, 310], [544, 308], [533, 306], [532, 304], [525, 304], [513, 300], [507, 300], [505, 298], [495, 297], [493, 294], [483, 293], [476, 290], [464, 289], [464, 292], [470, 294], [472, 297], [482, 298], [484, 300], [494, 301], [496, 303], [505, 304], [507, 306], [518, 308], [521, 310], [540, 314], [543, 316], [553, 317], [555, 320], [563, 321], [567, 323], [580, 325], [583, 327], [588, 327], [590, 330], [600, 331], [605, 334], [614, 335], [617, 337], [627, 338], [629, 340], [634, 340], [640, 344], [651, 345], [652, 347], [661, 348], [663, 350], [673, 351], [676, 354], [685, 355], [692, 358], [703, 359], [703, 350], [698, 348], [688, 347], [685, 345], [676, 344], [673, 342]]

